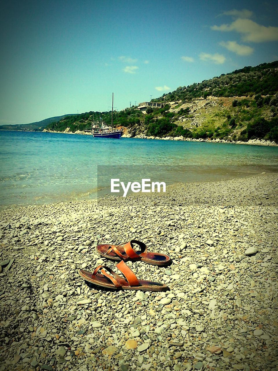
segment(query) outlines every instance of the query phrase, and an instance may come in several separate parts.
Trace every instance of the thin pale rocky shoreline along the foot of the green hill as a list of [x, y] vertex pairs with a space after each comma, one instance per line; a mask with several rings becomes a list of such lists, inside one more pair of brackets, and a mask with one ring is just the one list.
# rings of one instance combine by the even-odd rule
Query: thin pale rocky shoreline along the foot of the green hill
[[[66, 129], [67, 130], [67, 129]], [[76, 132], [72, 131], [54, 131], [54, 130], [46, 130], [44, 129], [42, 132], [49, 132], [49, 133], [60, 133], [60, 134], [81, 134], [81, 135], [91, 135], [90, 133], [84, 132], [77, 130]], [[174, 140], [174, 141], [186, 141], [186, 142], [207, 142], [207, 143], [226, 143], [226, 144], [249, 144], [249, 145], [263, 145], [267, 147], [278, 147], [278, 144], [275, 143], [274, 141], [265, 141], [264, 139], [249, 139], [248, 142], [242, 142], [242, 141], [226, 141], [224, 139], [192, 139], [192, 138], [184, 138], [184, 137], [165, 137], [165, 138], [160, 138], [160, 137], [154, 137], [150, 136], [147, 137], [146, 135], [140, 134], [140, 135], [135, 135], [134, 137], [129, 137], [122, 135], [122, 138], [135, 138], [135, 139], [157, 139], [157, 140]]]

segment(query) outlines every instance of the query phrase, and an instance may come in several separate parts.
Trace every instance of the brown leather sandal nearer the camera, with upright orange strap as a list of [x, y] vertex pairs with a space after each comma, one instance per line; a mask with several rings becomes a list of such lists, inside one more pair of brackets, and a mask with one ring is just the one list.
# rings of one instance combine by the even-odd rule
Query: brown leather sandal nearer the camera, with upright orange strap
[[[163, 283], [152, 281], [138, 280], [132, 270], [123, 262], [123, 260], [116, 265], [116, 267], [123, 273], [125, 278], [117, 275], [112, 269], [105, 265], [96, 267], [93, 273], [86, 270], [79, 269], [80, 276], [94, 285], [102, 286], [108, 289], [123, 289], [123, 290], [142, 290], [142, 291], [167, 291], [168, 286]], [[111, 275], [109, 275], [107, 270]]]

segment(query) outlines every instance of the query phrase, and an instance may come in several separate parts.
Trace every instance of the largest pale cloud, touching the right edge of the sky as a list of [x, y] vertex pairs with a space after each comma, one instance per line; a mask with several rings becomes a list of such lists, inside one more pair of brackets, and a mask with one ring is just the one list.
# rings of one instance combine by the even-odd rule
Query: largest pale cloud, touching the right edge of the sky
[[237, 19], [231, 24], [221, 24], [221, 26], [212, 26], [215, 31], [235, 31], [241, 34], [243, 41], [264, 42], [278, 40], [278, 27], [262, 26], [251, 19]]

